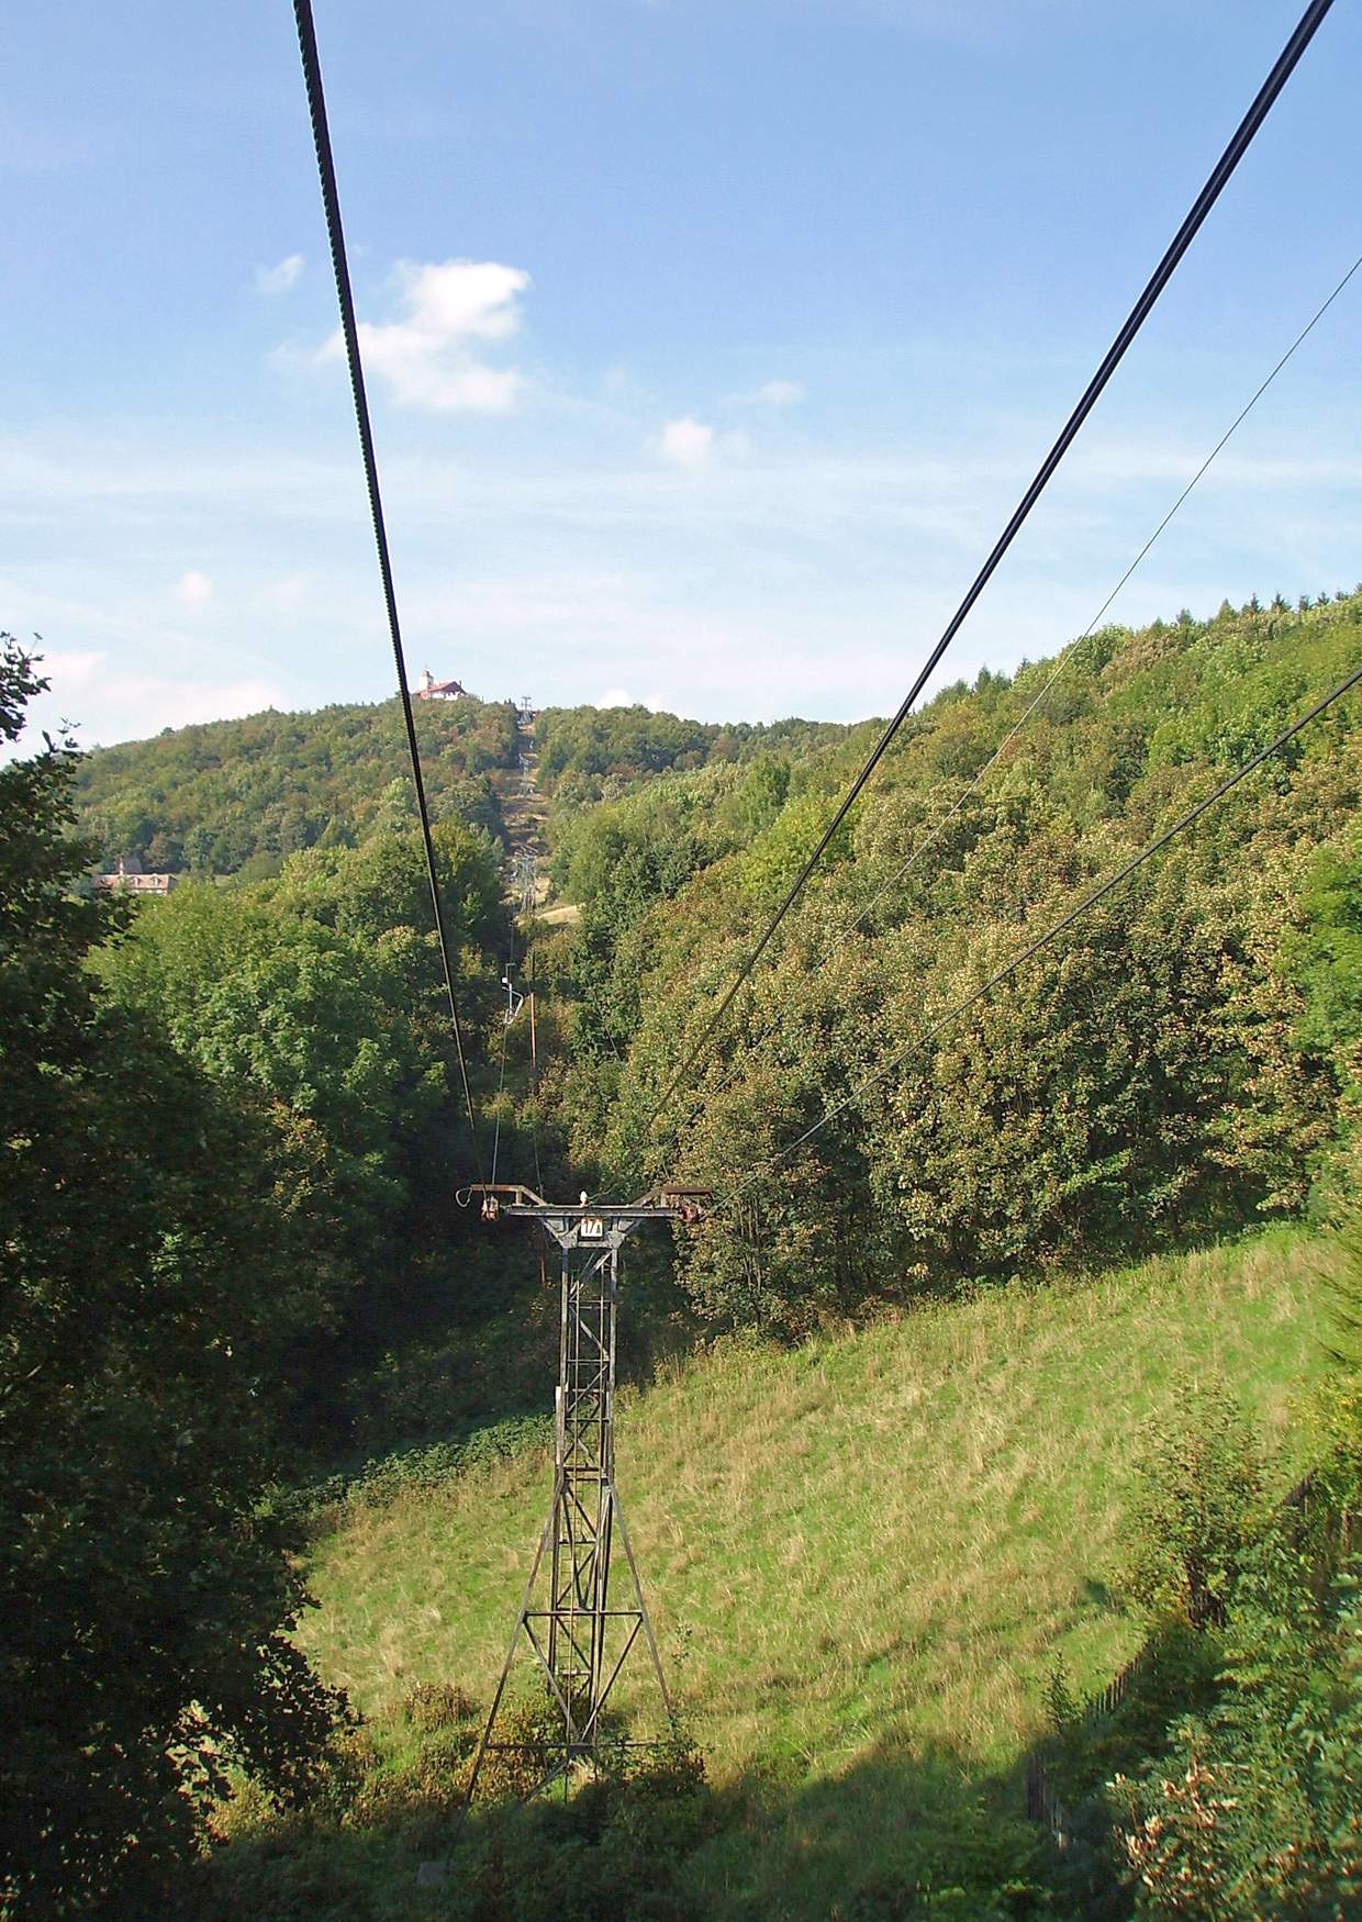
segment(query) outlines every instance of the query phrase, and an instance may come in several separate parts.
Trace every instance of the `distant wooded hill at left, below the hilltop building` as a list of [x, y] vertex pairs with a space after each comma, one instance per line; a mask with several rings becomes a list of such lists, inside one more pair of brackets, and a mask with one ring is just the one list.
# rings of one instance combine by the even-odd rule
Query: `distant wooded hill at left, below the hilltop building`
[[[509, 702], [417, 702], [436, 821], [501, 832], [494, 769], [517, 765]], [[357, 846], [415, 823], [398, 700], [248, 715], [98, 748], [77, 775], [81, 826], [106, 863], [194, 875], [273, 873], [317, 844]]]

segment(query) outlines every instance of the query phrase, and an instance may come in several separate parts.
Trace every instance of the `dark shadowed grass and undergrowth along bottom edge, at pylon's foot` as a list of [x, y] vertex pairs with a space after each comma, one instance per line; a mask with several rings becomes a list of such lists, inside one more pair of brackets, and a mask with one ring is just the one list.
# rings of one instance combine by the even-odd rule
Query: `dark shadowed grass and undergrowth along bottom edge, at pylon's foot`
[[[438, 1741], [426, 1745], [403, 1793], [396, 1780], [384, 1795], [361, 1778], [311, 1811], [259, 1811], [196, 1872], [184, 1912], [204, 1922], [1074, 1912], [1057, 1907], [1057, 1859], [1024, 1820], [1020, 1780], [980, 1774], [947, 1747], [886, 1745], [816, 1776], [797, 1759], [772, 1761], [722, 1786], [682, 1747], [567, 1799], [476, 1809], [461, 1834], [459, 1768], [446, 1755], [440, 1780], [438, 1753]], [[423, 1887], [419, 1866], [432, 1859], [448, 1859], [448, 1872]]]

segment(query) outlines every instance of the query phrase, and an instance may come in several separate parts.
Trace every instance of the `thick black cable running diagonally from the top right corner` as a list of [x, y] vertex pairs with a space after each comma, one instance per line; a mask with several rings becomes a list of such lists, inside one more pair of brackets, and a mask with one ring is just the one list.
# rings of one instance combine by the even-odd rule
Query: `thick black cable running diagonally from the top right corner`
[[836, 815], [832, 817], [832, 821], [824, 828], [818, 846], [813, 850], [813, 853], [809, 855], [809, 859], [801, 867], [799, 875], [795, 876], [793, 884], [790, 886], [790, 892], [786, 894], [786, 898], [782, 899], [780, 907], [776, 909], [776, 913], [772, 915], [770, 923], [766, 924], [765, 934], [761, 936], [761, 940], [757, 942], [757, 946], [751, 949], [751, 953], [747, 955], [747, 959], [740, 967], [736, 980], [732, 982], [732, 986], [728, 988], [728, 992], [724, 994], [724, 998], [718, 1003], [718, 1007], [715, 1009], [715, 1013], [705, 1023], [705, 1026], [703, 1026], [703, 1030], [699, 1034], [699, 1040], [695, 1042], [695, 1046], [690, 1049], [690, 1053], [686, 1055], [686, 1059], [680, 1063], [680, 1067], [672, 1074], [670, 1082], [667, 1084], [667, 1090], [663, 1092], [661, 1101], [657, 1103], [657, 1107], [653, 1109], [653, 1113], [649, 1117], [649, 1124], [655, 1122], [659, 1119], [659, 1115], [663, 1115], [665, 1109], [670, 1105], [670, 1101], [672, 1101], [676, 1090], [680, 1088], [682, 1080], [690, 1074], [690, 1071], [695, 1067], [695, 1063], [701, 1059], [701, 1055], [709, 1047], [709, 1042], [713, 1040], [715, 1030], [718, 1028], [718, 1023], [724, 1019], [724, 1015], [732, 1007], [734, 996], [738, 994], [738, 990], [742, 988], [742, 984], [747, 980], [747, 976], [755, 969], [757, 961], [761, 961], [763, 953], [766, 951], [766, 946], [770, 944], [772, 934], [776, 932], [776, 928], [780, 926], [780, 923], [786, 919], [786, 915], [790, 913], [790, 909], [793, 907], [793, 903], [803, 894], [805, 884], [809, 882], [809, 876], [813, 875], [815, 867], [818, 865], [818, 861], [826, 853], [828, 844], [832, 842], [832, 836], [838, 832], [838, 828], [841, 826], [841, 823], [851, 813], [851, 807], [855, 805], [857, 796], [861, 794], [861, 790], [864, 788], [866, 780], [870, 778], [870, 775], [880, 765], [880, 759], [884, 757], [884, 752], [888, 750], [889, 742], [893, 740], [893, 736], [899, 732], [899, 728], [907, 721], [907, 717], [912, 711], [918, 696], [922, 694], [922, 688], [928, 684], [928, 680], [936, 673], [936, 669], [937, 669], [937, 665], [941, 661], [941, 655], [945, 653], [945, 650], [951, 646], [951, 642], [955, 640], [957, 632], [964, 625], [970, 609], [974, 607], [976, 600], [980, 598], [980, 594], [984, 592], [984, 588], [991, 580], [991, 577], [993, 577], [999, 561], [1003, 559], [1003, 555], [1007, 554], [1007, 550], [1012, 546], [1012, 540], [1020, 532], [1022, 523], [1030, 515], [1032, 507], [1035, 505], [1035, 502], [1045, 492], [1049, 480], [1055, 475], [1055, 469], [1058, 467], [1058, 463], [1062, 461], [1062, 457], [1068, 452], [1070, 444], [1078, 436], [1078, 431], [1082, 429], [1083, 421], [1087, 419], [1087, 415], [1097, 406], [1097, 400], [1099, 400], [1103, 388], [1107, 386], [1107, 382], [1110, 381], [1110, 377], [1116, 373], [1116, 367], [1124, 359], [1126, 350], [1133, 342], [1135, 334], [1139, 333], [1139, 329], [1149, 319], [1149, 315], [1151, 315], [1151, 311], [1155, 308], [1155, 302], [1158, 300], [1158, 296], [1162, 294], [1164, 286], [1172, 279], [1174, 269], [1178, 267], [1180, 259], [1183, 258], [1183, 254], [1187, 252], [1187, 248], [1195, 240], [1195, 236], [1197, 236], [1203, 221], [1206, 219], [1206, 215], [1214, 208], [1216, 200], [1220, 198], [1220, 194], [1222, 194], [1224, 186], [1228, 185], [1229, 177], [1233, 175], [1235, 167], [1239, 165], [1239, 161], [1243, 160], [1243, 156], [1249, 152], [1249, 146], [1253, 144], [1254, 135], [1258, 133], [1258, 129], [1262, 127], [1264, 119], [1268, 117], [1268, 113], [1270, 113], [1270, 110], [1272, 110], [1277, 94], [1281, 92], [1281, 88], [1285, 86], [1285, 83], [1291, 79], [1291, 73], [1293, 73], [1297, 62], [1301, 60], [1301, 56], [1304, 54], [1306, 46], [1314, 38], [1320, 23], [1324, 21], [1324, 15], [1329, 12], [1331, 6], [1333, 6], [1333, 0], [1310, 0], [1310, 6], [1301, 15], [1301, 21], [1299, 21], [1295, 33], [1291, 35], [1291, 38], [1283, 46], [1281, 54], [1277, 56], [1277, 62], [1272, 67], [1272, 73], [1268, 75], [1268, 79], [1258, 88], [1258, 94], [1254, 96], [1253, 106], [1249, 108], [1249, 111], [1245, 113], [1245, 117], [1239, 121], [1239, 127], [1235, 129], [1229, 144], [1226, 146], [1224, 154], [1220, 156], [1220, 160], [1212, 167], [1210, 177], [1206, 179], [1206, 185], [1197, 194], [1197, 198], [1195, 198], [1195, 202], [1193, 202], [1187, 217], [1183, 219], [1181, 227], [1178, 229], [1178, 233], [1174, 234], [1172, 242], [1168, 244], [1168, 250], [1166, 250], [1164, 258], [1155, 267], [1155, 271], [1153, 271], [1153, 275], [1151, 275], [1145, 290], [1141, 292], [1139, 300], [1135, 302], [1135, 306], [1126, 315], [1126, 321], [1122, 323], [1120, 333], [1116, 334], [1116, 338], [1112, 340], [1110, 348], [1103, 356], [1103, 361], [1101, 361], [1097, 373], [1087, 382], [1082, 400], [1078, 402], [1078, 406], [1070, 413], [1068, 421], [1064, 423], [1064, 427], [1062, 427], [1062, 431], [1058, 434], [1058, 440], [1055, 442], [1055, 446], [1049, 450], [1049, 454], [1041, 461], [1039, 469], [1035, 471], [1035, 477], [1034, 477], [1032, 484], [1026, 488], [1026, 492], [1022, 494], [1022, 498], [1020, 498], [1020, 502], [1016, 505], [1016, 509], [1012, 511], [1010, 521], [1007, 523], [1007, 527], [999, 534], [997, 542], [993, 544], [993, 552], [989, 554], [989, 557], [980, 567], [980, 571], [974, 577], [974, 580], [972, 580], [972, 584], [970, 584], [964, 600], [955, 609], [955, 613], [951, 615], [951, 619], [949, 619], [949, 623], [947, 623], [941, 638], [932, 648], [932, 653], [926, 657], [926, 663], [922, 665], [922, 671], [918, 673], [916, 680], [909, 688], [909, 694], [905, 696], [903, 703], [899, 705], [899, 711], [893, 715], [893, 719], [886, 727], [884, 734], [880, 736], [880, 740], [870, 750], [870, 753], [868, 753], [868, 757], [866, 757], [861, 773], [857, 775], [857, 778], [847, 788], [847, 794], [843, 796], [841, 805], [838, 807]]

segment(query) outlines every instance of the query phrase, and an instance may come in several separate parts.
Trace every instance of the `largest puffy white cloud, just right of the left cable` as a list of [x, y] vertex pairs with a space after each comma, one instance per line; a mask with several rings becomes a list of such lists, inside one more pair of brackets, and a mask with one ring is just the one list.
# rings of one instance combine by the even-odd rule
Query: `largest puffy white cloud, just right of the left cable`
[[[365, 371], [388, 382], [405, 407], [436, 413], [505, 413], [524, 388], [515, 367], [488, 367], [471, 342], [509, 340], [521, 327], [519, 296], [530, 284], [521, 267], [498, 261], [448, 259], [419, 265], [398, 261], [401, 296], [398, 321], [361, 321]], [[336, 331], [319, 359], [344, 357]]]

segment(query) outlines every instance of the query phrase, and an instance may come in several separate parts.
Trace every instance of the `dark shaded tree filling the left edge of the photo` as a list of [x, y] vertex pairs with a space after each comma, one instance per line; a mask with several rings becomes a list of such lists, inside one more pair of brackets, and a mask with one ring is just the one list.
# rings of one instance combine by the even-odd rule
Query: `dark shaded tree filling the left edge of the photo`
[[[40, 682], [0, 652], [0, 738]], [[73, 753], [0, 767], [0, 1907], [152, 1912], [240, 1761], [282, 1795], [334, 1701], [290, 1641], [259, 1393], [280, 1276], [250, 1130], [86, 961]]]

